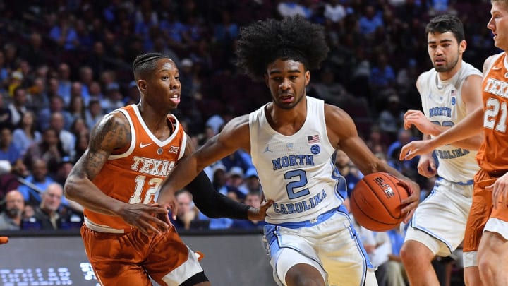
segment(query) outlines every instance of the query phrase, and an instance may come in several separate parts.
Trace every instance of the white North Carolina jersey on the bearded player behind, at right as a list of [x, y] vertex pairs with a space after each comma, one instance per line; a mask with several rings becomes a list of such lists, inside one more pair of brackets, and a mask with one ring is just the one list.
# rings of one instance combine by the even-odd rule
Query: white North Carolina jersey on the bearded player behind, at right
[[[454, 126], [464, 119], [467, 111], [461, 88], [464, 80], [472, 75], [482, 76], [482, 73], [464, 61], [461, 69], [447, 81], [441, 81], [434, 68], [422, 73], [417, 88], [425, 117], [440, 126]], [[480, 168], [473, 150], [444, 145], [435, 149], [435, 155], [439, 160], [437, 174], [448, 181], [470, 181]]]

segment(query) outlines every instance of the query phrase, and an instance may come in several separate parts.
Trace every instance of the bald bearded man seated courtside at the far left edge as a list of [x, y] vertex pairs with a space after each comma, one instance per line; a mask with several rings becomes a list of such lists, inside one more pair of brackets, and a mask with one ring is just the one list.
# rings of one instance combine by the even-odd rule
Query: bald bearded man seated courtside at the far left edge
[[0, 230], [20, 230], [25, 201], [18, 190], [9, 191], [5, 196], [4, 212], [0, 213]]

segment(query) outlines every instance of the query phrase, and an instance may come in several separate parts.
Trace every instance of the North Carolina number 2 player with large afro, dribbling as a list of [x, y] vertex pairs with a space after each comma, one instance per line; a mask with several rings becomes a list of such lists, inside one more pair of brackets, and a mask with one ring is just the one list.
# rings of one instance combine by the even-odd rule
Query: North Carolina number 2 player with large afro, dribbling
[[[374, 269], [351, 226], [334, 155], [344, 150], [364, 174], [389, 172], [405, 181], [411, 216], [420, 190], [370, 152], [344, 110], [306, 95], [310, 70], [329, 48], [323, 28], [300, 16], [264, 20], [241, 30], [238, 66], [264, 79], [272, 101], [229, 121], [161, 184], [157, 203], [175, 208], [173, 193], [207, 165], [239, 148], [258, 169], [267, 210], [264, 242], [278, 285], [377, 285]], [[342, 182], [343, 183], [343, 182]]]

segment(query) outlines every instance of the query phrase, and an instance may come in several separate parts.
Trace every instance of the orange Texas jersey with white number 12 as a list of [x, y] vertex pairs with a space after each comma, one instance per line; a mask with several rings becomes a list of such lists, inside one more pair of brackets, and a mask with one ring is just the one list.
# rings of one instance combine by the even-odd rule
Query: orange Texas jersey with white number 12
[[[155, 193], [164, 178], [185, 152], [186, 133], [173, 114], [168, 121], [174, 132], [159, 141], [141, 118], [138, 107], [118, 109], [131, 126], [131, 146], [126, 153], [110, 155], [93, 183], [107, 196], [125, 203], [154, 203]], [[128, 231], [132, 227], [121, 218], [85, 209], [85, 221], [103, 232]]]

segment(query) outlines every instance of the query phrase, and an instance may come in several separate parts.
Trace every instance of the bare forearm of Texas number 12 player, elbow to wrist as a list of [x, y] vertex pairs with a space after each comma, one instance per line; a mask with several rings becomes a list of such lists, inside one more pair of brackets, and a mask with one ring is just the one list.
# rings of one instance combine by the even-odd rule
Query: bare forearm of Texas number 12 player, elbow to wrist
[[126, 203], [102, 193], [89, 179], [70, 176], [63, 188], [66, 198], [96, 213], [118, 216]]

